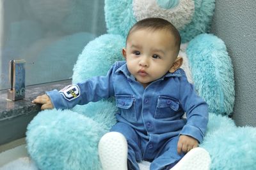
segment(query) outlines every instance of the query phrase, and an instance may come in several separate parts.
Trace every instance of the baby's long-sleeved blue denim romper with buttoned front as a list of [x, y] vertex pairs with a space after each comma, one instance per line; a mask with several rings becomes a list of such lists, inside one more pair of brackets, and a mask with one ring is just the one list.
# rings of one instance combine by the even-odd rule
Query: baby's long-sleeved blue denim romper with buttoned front
[[[46, 93], [56, 109], [115, 96], [117, 123], [111, 131], [121, 132], [127, 139], [130, 169], [139, 169], [141, 160], [152, 162], [150, 169], [170, 169], [184, 156], [177, 153], [179, 135], [201, 143], [208, 122], [208, 106], [182, 69], [166, 73], [144, 89], [129, 73], [126, 62], [119, 61], [106, 76]], [[187, 118], [182, 118], [185, 112]]]

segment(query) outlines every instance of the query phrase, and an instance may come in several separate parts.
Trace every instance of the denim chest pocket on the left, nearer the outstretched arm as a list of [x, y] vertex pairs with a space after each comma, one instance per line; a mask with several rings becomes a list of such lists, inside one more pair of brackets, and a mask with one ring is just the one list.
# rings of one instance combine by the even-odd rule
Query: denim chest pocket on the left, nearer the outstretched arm
[[137, 121], [135, 98], [130, 95], [116, 95], [116, 107], [127, 120]]

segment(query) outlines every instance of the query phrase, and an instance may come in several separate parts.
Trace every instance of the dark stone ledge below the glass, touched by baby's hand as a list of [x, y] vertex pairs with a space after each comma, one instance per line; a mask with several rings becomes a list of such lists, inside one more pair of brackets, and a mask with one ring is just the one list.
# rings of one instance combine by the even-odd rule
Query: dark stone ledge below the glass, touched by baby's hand
[[40, 111], [40, 104], [32, 104], [36, 96], [45, 91], [57, 89], [69, 85], [71, 80], [56, 81], [40, 85], [26, 87], [26, 97], [19, 101], [8, 101], [7, 90], [0, 91], [0, 145], [9, 143], [15, 139], [24, 138], [26, 127]]

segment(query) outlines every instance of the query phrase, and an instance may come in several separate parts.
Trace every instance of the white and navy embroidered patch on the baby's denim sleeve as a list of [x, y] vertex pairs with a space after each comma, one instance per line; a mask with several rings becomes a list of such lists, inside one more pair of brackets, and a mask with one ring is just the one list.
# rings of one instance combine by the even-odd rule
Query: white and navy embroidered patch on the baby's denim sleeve
[[78, 85], [68, 85], [60, 90], [60, 94], [68, 101], [72, 101], [80, 96], [80, 89]]

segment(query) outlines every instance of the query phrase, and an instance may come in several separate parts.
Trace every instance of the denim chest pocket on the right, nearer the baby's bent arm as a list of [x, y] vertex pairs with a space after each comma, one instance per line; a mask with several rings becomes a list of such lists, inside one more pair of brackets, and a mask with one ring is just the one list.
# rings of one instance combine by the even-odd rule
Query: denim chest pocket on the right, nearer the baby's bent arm
[[155, 118], [170, 118], [179, 110], [179, 101], [167, 96], [158, 96]]

